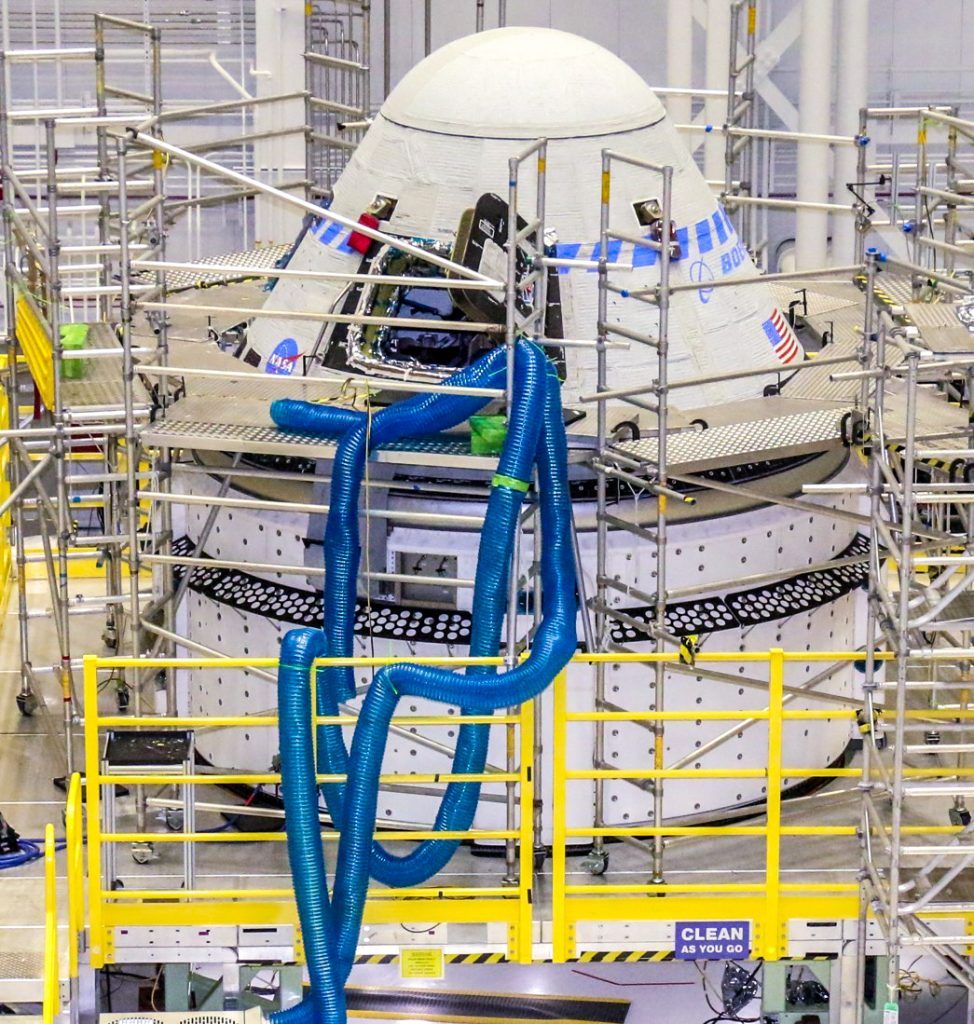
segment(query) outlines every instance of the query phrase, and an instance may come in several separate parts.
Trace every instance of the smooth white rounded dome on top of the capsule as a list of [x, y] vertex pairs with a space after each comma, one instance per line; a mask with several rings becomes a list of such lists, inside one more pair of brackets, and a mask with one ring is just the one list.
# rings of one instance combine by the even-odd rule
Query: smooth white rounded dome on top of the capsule
[[409, 128], [476, 138], [579, 138], [666, 116], [613, 53], [555, 29], [494, 29], [431, 53], [389, 93], [381, 115]]

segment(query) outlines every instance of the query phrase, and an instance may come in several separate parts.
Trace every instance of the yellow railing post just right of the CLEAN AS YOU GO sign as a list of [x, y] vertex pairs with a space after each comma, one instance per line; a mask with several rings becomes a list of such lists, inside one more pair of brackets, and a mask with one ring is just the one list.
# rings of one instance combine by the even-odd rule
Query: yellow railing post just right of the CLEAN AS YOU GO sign
[[[788, 937], [781, 919], [781, 739], [785, 711], [785, 651], [768, 653], [768, 782], [767, 838], [765, 840], [765, 900], [760, 948], [764, 959], [780, 959]], [[755, 942], [755, 945], [758, 943]]]

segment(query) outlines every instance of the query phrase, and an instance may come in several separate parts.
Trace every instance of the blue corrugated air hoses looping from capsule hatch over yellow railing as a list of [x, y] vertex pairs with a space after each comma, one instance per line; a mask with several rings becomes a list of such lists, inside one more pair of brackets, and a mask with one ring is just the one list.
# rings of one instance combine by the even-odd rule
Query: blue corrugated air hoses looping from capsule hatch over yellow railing
[[[498, 387], [506, 359], [496, 349], [449, 378], [447, 386]], [[320, 726], [317, 764], [310, 725], [310, 667], [315, 657], [352, 652], [356, 580], [361, 558], [358, 495], [368, 453], [395, 440], [422, 437], [468, 419], [486, 399], [469, 395], [420, 395], [365, 413], [285, 399], [270, 413], [285, 429], [338, 437], [325, 534], [325, 623], [328, 630], [291, 630], [281, 648], [282, 791], [287, 812], [288, 855], [301, 920], [311, 994], [274, 1015], [274, 1024], [345, 1021], [344, 982], [354, 959], [370, 876], [390, 886], [413, 886], [436, 873], [453, 856], [456, 840], [427, 840], [397, 856], [373, 840], [379, 772], [390, 719], [400, 697], [420, 696], [484, 714], [519, 705], [540, 693], [576, 648], [576, 577], [567, 483], [567, 445], [560, 385], [544, 352], [526, 342], [515, 351], [514, 401], [504, 450], [488, 500], [474, 581], [470, 653], [500, 649], [511, 552], [518, 514], [535, 469], [541, 508], [542, 621], [531, 654], [498, 675], [491, 668], [466, 673], [412, 664], [380, 670], [358, 716], [351, 750], [340, 726]], [[354, 693], [351, 669], [319, 673], [316, 710], [334, 715]], [[489, 727], [461, 727], [453, 771], [479, 773], [486, 761]], [[285, 741], [286, 739], [286, 741]], [[339, 826], [335, 887], [329, 898], [317, 814], [315, 769], [345, 774], [346, 783], [322, 786]], [[433, 829], [466, 830], [479, 799], [475, 782], [447, 786]]]

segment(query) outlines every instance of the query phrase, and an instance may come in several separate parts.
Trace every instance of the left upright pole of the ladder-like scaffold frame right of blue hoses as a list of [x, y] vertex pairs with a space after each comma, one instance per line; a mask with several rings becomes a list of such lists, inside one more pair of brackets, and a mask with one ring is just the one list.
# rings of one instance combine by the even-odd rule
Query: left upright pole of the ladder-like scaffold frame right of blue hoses
[[[596, 323], [595, 343], [595, 383], [600, 393], [608, 387], [608, 368], [605, 359], [605, 346], [608, 340], [608, 212], [612, 191], [612, 165], [608, 150], [602, 151], [602, 177], [599, 201], [598, 225], [598, 312]], [[605, 458], [608, 444], [607, 417], [605, 401], [596, 403], [596, 450], [599, 463]], [[608, 590], [605, 586], [608, 562], [608, 523], [607, 514], [608, 487], [605, 473], [598, 470], [595, 474], [595, 642], [597, 650], [608, 650], [608, 630], [606, 621], [606, 602]], [[605, 706], [605, 665], [598, 662], [595, 666], [595, 708], [603, 711]], [[592, 767], [600, 770], [605, 762], [605, 725], [599, 720], [595, 723], [595, 736], [592, 744]], [[605, 781], [601, 777], [595, 779], [595, 827], [605, 824]], [[605, 858], [605, 840], [597, 835], [592, 840], [592, 853], [601, 860]]]

